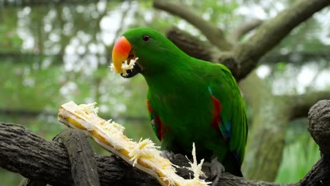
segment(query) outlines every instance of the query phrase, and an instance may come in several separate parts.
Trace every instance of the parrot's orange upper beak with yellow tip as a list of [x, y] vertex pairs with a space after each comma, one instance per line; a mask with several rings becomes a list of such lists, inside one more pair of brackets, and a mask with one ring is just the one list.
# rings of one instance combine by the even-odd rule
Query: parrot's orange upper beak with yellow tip
[[129, 52], [131, 52], [132, 45], [126, 37], [120, 37], [112, 50], [112, 61], [115, 70], [118, 73], [122, 73], [122, 62], [124, 62], [129, 57]]

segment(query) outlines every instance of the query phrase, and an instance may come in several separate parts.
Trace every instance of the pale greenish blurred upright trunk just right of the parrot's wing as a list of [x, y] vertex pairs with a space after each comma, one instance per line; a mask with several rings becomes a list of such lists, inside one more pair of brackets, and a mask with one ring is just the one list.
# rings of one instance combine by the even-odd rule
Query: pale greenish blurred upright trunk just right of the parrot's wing
[[[253, 110], [243, 173], [250, 179], [272, 181], [282, 161], [289, 104], [272, 95], [268, 83], [252, 72], [240, 83], [243, 96]], [[256, 158], [258, 157], [258, 158]], [[261, 174], [265, 173], [267, 174]]]

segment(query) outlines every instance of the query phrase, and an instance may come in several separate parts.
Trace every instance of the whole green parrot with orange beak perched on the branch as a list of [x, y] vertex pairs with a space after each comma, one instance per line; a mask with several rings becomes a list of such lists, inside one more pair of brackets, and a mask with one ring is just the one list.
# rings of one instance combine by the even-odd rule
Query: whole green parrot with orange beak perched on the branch
[[[123, 73], [122, 63], [136, 57], [133, 69]], [[161, 149], [189, 155], [195, 143], [198, 159], [217, 158], [226, 172], [242, 176], [248, 120], [228, 68], [188, 56], [148, 28], [124, 32], [112, 59], [122, 76], [144, 76], [151, 125]]]

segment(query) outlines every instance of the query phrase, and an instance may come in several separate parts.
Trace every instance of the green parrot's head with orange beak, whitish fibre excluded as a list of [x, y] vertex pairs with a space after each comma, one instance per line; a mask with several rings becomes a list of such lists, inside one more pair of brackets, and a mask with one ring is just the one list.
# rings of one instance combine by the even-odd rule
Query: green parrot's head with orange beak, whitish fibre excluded
[[[112, 61], [115, 71], [129, 78], [138, 73], [152, 75], [168, 69], [170, 61], [183, 52], [163, 34], [149, 28], [135, 28], [124, 32], [113, 47]], [[183, 53], [184, 54], [184, 53]], [[186, 55], [186, 54], [184, 54]], [[131, 70], [122, 71], [122, 63], [138, 58]]]

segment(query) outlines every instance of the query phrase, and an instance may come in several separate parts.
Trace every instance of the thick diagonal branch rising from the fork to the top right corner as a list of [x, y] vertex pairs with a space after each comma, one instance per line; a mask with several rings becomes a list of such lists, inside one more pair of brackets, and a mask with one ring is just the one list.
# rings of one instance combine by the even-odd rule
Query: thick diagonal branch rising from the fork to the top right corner
[[296, 1], [273, 19], [265, 21], [248, 41], [237, 45], [233, 50], [234, 58], [239, 63], [236, 72], [238, 79], [247, 76], [256, 67], [261, 56], [274, 48], [297, 25], [329, 4], [329, 0]]

